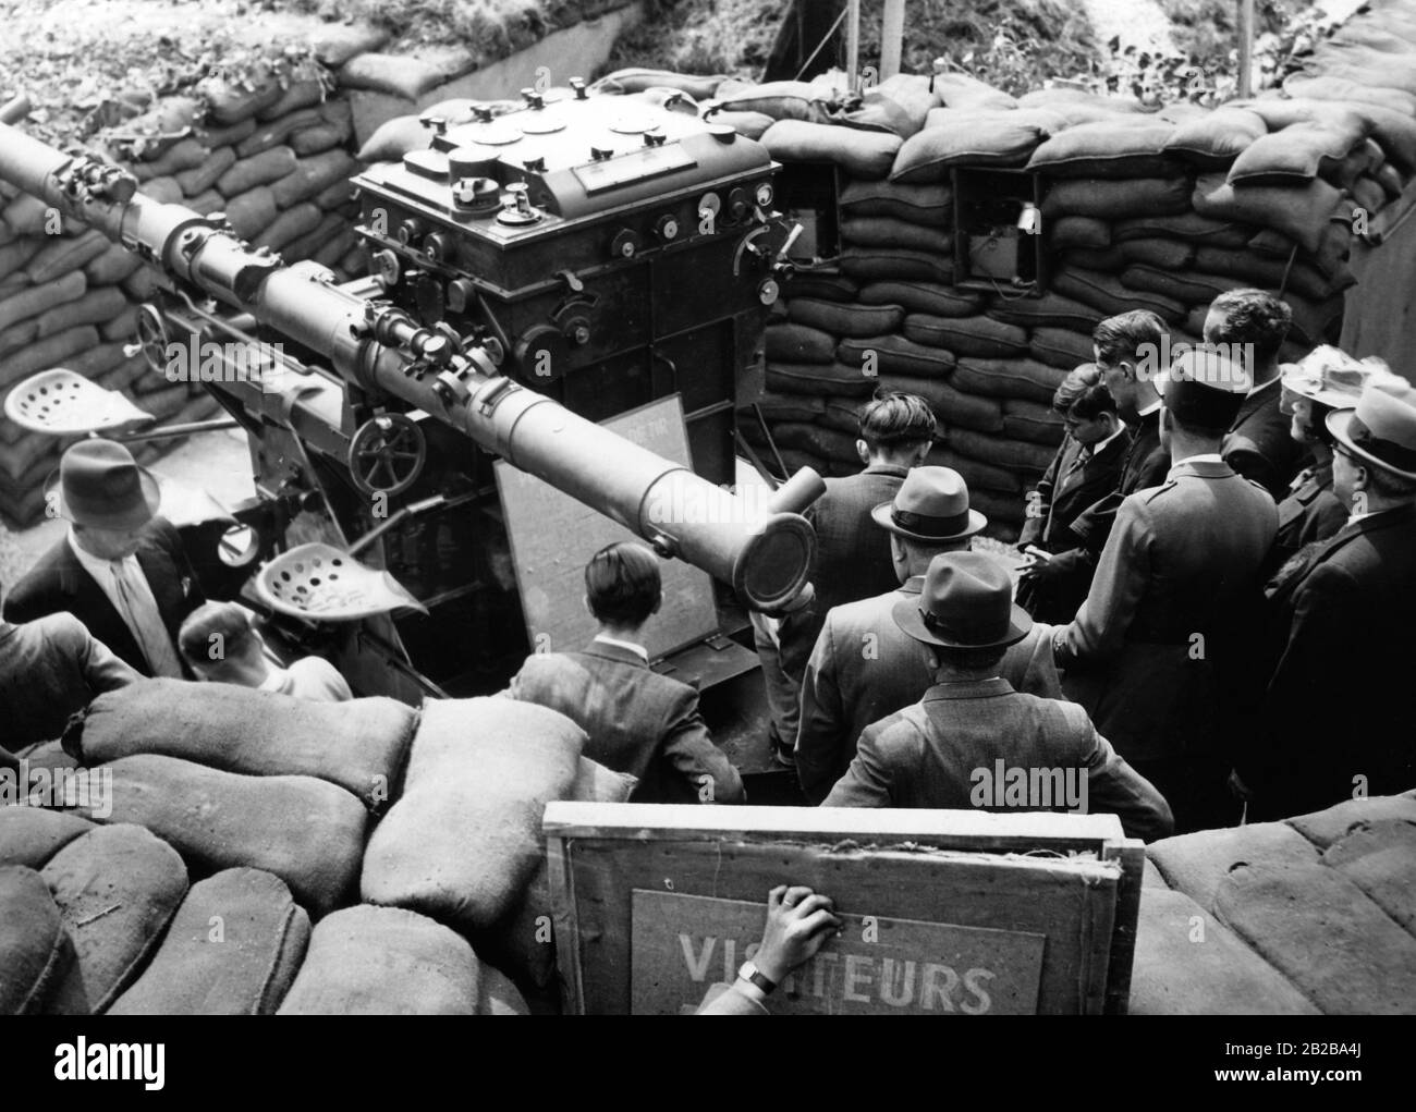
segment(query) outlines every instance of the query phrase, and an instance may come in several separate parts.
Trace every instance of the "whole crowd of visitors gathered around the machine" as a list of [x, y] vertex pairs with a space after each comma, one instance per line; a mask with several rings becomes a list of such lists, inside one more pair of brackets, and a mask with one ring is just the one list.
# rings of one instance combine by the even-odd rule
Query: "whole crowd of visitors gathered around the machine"
[[[814, 598], [753, 619], [806, 800], [1061, 809], [1076, 800], [1038, 786], [1073, 775], [1089, 810], [1154, 839], [1416, 785], [1416, 390], [1330, 347], [1280, 365], [1290, 320], [1225, 293], [1178, 354], [1153, 313], [1097, 324], [1095, 363], [1056, 391], [1066, 436], [1011, 569], [973, 551], [987, 520], [964, 479], [925, 462], [929, 404], [865, 405], [864, 469], [810, 511]], [[4, 601], [0, 761], [139, 676], [351, 697], [329, 662], [282, 667], [244, 606], [205, 601], [122, 445], [71, 448], [54, 494], [68, 533]], [[637, 800], [745, 800], [698, 693], [640, 643], [657, 558], [610, 545], [585, 588], [590, 643], [528, 657], [503, 694], [579, 722]], [[995, 769], [1021, 795], [981, 790]]]

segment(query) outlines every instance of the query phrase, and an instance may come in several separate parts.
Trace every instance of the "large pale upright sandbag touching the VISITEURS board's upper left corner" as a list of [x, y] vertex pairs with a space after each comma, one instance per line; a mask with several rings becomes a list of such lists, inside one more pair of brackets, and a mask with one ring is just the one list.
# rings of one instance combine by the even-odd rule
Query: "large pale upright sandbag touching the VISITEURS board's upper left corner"
[[583, 741], [569, 718], [530, 703], [428, 701], [404, 796], [364, 854], [362, 898], [464, 931], [494, 924], [535, 873], [542, 810], [575, 781]]

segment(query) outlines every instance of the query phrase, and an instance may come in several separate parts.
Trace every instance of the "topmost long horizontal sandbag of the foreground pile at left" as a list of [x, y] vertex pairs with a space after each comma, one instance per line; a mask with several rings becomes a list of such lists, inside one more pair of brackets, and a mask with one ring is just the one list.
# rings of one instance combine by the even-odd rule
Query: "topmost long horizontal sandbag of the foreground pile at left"
[[418, 714], [394, 698], [316, 703], [225, 683], [140, 680], [65, 732], [85, 764], [161, 754], [248, 776], [316, 776], [374, 810], [398, 795]]

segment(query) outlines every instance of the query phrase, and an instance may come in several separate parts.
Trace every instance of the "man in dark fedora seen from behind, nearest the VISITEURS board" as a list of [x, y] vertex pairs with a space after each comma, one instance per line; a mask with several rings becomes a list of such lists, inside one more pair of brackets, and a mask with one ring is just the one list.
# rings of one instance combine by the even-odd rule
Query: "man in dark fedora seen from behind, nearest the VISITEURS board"
[[980, 798], [980, 772], [1001, 765], [1031, 785], [1046, 783], [1048, 799], [1022, 790], [1001, 806], [1065, 809], [1051, 785], [1069, 773], [1085, 778], [1086, 810], [1116, 815], [1129, 837], [1170, 834], [1164, 798], [1097, 734], [1075, 703], [1015, 691], [1000, 666], [1010, 645], [1022, 640], [1032, 618], [1012, 602], [1012, 582], [983, 552], [935, 557], [919, 595], [899, 599], [896, 626], [929, 646], [939, 664], [925, 697], [861, 734], [855, 759], [826, 798], [828, 807], [1000, 807], [1000, 796]]

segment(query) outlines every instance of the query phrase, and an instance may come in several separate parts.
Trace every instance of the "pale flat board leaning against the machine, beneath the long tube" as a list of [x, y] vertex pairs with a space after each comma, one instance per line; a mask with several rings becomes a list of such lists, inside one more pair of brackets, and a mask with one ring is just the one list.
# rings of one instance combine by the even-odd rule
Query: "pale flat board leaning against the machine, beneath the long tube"
[[[692, 466], [684, 407], [677, 394], [600, 422], [610, 432], [674, 463]], [[630, 530], [556, 490], [544, 479], [496, 463], [515, 565], [527, 640], [534, 652], [575, 652], [595, 636], [585, 611], [585, 565], [616, 541], [639, 541]], [[681, 560], [658, 565], [664, 605], [644, 626], [650, 660], [718, 633], [712, 578]]]

